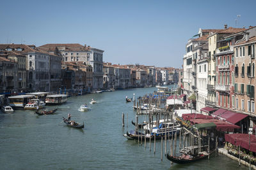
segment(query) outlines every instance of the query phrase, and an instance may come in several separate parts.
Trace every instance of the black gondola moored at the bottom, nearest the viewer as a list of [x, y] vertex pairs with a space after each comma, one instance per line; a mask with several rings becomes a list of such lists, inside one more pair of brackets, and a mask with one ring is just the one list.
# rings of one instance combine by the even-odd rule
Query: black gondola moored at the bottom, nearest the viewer
[[[212, 151], [214, 152], [214, 151]], [[210, 152], [210, 154], [212, 153]], [[174, 163], [177, 163], [177, 164], [188, 164], [190, 162], [195, 162], [196, 160], [201, 160], [201, 159], [205, 159], [208, 157], [208, 154], [198, 154], [198, 155], [193, 155], [193, 156], [189, 156], [188, 155], [188, 158], [182, 158], [182, 157], [175, 157], [175, 156], [170, 156], [169, 153], [167, 153], [166, 155], [167, 159], [174, 162]]]

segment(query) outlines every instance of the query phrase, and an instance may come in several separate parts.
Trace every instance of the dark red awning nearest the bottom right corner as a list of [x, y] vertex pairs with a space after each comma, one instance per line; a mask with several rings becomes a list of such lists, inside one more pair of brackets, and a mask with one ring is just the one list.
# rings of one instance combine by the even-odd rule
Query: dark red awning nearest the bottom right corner
[[256, 152], [256, 138], [255, 135], [249, 134], [225, 134], [225, 141], [232, 143], [235, 146], [241, 146], [246, 150]]

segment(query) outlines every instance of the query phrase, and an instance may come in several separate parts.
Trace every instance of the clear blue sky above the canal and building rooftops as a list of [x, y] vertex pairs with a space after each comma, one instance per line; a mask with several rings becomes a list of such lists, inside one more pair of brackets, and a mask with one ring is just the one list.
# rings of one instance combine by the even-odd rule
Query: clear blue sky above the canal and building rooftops
[[181, 67], [199, 28], [256, 25], [256, 1], [2, 1], [1, 7], [0, 43], [86, 44], [113, 64]]

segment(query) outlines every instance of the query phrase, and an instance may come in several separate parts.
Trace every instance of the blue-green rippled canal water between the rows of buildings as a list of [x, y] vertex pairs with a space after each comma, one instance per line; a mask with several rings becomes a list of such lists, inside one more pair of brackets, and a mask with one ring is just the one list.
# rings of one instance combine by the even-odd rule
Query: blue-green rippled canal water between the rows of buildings
[[[149, 143], [145, 148], [144, 143], [138, 145], [124, 138], [127, 130], [134, 129], [132, 103], [126, 103], [125, 96], [139, 97], [154, 90], [150, 87], [70, 97], [60, 106], [47, 106], [58, 108], [54, 115], [38, 116], [23, 110], [1, 113], [1, 169], [248, 169], [215, 154], [209, 160], [171, 166], [166, 157], [161, 161], [161, 141], [157, 141], [154, 155], [154, 143], [149, 152]], [[92, 98], [97, 104], [89, 104]], [[90, 110], [81, 112], [78, 108], [84, 103]], [[70, 128], [62, 122], [68, 112], [72, 120], [84, 122], [84, 129]]]

